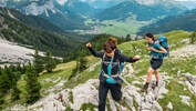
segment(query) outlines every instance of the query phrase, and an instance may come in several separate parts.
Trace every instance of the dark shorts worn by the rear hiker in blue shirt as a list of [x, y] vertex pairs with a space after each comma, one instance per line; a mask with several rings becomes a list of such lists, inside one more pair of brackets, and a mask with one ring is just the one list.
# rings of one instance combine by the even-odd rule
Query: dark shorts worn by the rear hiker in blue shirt
[[163, 64], [163, 59], [153, 59], [153, 58], [151, 59], [152, 69], [157, 70], [162, 67], [162, 64]]

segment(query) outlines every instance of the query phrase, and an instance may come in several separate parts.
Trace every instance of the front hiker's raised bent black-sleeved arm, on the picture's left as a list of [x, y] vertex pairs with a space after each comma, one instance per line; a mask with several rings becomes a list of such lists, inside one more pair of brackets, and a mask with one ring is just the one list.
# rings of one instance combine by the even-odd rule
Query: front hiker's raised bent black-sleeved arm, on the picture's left
[[90, 50], [90, 52], [91, 52], [94, 57], [103, 58], [104, 52], [94, 50], [94, 49], [92, 48], [92, 44], [91, 44], [90, 42], [86, 44], [86, 48]]

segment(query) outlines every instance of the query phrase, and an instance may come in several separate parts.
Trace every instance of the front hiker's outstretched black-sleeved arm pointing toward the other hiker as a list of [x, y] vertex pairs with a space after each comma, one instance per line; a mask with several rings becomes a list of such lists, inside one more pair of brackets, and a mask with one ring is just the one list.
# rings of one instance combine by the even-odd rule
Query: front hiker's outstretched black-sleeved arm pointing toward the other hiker
[[125, 56], [125, 54], [120, 54], [121, 56], [121, 61], [122, 62], [136, 62], [136, 61], [138, 61], [140, 60], [140, 56], [135, 56], [134, 58], [132, 58], [132, 57], [127, 57], [127, 56]]

